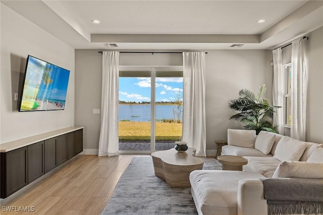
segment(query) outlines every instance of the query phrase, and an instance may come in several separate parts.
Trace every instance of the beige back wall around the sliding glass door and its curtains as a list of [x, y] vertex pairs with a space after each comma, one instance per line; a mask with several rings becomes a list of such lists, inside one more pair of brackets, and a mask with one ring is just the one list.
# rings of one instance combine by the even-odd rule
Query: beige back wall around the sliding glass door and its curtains
[[[230, 99], [247, 88], [258, 91], [267, 85], [266, 98], [272, 99], [272, 66], [270, 50], [204, 50], [206, 54], [206, 149], [216, 150], [214, 140], [227, 139], [227, 128], [241, 128], [229, 120]], [[98, 50], [75, 51], [76, 125], [84, 128], [84, 149], [98, 149], [101, 107], [102, 55]], [[120, 65], [182, 65], [181, 54], [120, 54]]]

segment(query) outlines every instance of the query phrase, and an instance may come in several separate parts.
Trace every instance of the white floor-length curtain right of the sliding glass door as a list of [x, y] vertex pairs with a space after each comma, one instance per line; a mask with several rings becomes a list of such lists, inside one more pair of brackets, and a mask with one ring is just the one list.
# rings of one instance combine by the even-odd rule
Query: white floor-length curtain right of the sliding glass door
[[206, 156], [205, 53], [183, 52], [183, 136], [196, 156]]

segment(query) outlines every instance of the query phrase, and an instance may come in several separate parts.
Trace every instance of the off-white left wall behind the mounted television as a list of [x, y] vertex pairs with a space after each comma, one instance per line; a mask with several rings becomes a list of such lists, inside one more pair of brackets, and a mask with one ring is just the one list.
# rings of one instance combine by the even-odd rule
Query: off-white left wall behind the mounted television
[[[18, 112], [19, 93], [28, 54], [71, 71], [65, 110]], [[0, 143], [74, 126], [75, 51], [1, 4]]]

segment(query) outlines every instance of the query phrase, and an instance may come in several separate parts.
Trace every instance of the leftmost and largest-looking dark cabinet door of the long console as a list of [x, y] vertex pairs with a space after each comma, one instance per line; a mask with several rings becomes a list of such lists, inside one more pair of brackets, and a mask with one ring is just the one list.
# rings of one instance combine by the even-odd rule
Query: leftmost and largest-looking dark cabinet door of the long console
[[9, 196], [28, 184], [28, 147], [6, 153], [6, 188]]

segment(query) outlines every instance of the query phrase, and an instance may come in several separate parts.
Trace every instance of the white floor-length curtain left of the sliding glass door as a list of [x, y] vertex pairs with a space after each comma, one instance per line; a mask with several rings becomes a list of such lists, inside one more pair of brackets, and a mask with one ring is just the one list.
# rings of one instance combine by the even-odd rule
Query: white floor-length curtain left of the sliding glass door
[[98, 156], [119, 155], [119, 52], [102, 52], [101, 131]]

